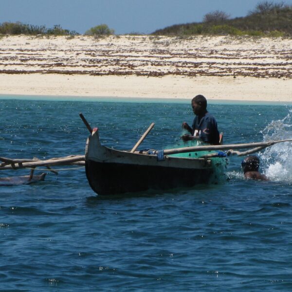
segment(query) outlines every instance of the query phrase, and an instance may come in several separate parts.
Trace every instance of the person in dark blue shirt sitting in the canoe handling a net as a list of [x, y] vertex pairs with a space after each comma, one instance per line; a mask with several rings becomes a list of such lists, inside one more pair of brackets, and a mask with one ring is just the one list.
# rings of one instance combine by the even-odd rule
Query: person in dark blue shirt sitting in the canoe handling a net
[[182, 136], [183, 141], [200, 139], [205, 143], [219, 145], [219, 131], [215, 118], [207, 111], [207, 100], [203, 95], [192, 99], [193, 112], [196, 115], [192, 127], [183, 123], [183, 128], [190, 132]]

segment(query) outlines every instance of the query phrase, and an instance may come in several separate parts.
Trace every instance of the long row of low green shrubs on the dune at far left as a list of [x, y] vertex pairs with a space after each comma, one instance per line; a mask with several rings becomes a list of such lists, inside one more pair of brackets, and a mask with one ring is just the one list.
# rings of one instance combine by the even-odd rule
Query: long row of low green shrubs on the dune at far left
[[63, 29], [60, 25], [53, 28], [46, 28], [45, 25], [31, 25], [22, 22], [3, 22], [0, 24], [2, 35], [53, 35], [53, 36], [76, 36], [75, 31]]

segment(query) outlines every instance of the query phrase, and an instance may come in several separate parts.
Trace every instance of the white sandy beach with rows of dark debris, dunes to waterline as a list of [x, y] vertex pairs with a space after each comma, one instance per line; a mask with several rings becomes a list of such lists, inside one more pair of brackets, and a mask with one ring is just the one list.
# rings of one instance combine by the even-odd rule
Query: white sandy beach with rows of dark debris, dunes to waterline
[[292, 39], [2, 37], [0, 94], [292, 101]]

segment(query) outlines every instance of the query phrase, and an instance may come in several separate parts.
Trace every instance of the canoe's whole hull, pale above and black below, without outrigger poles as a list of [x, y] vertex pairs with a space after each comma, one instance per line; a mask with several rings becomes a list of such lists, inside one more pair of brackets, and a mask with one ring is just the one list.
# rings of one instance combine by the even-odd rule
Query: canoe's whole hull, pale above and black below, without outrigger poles
[[111, 195], [208, 183], [214, 168], [206, 158], [163, 155], [159, 159], [158, 155], [102, 146], [94, 128], [86, 144], [85, 169], [92, 190]]

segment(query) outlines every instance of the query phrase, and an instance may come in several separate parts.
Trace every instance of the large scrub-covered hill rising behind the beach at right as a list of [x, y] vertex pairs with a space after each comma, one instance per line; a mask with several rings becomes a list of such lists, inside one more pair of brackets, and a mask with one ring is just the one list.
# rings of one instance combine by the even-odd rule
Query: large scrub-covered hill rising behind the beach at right
[[217, 10], [206, 14], [203, 22], [169, 26], [153, 35], [292, 36], [292, 5], [262, 1], [246, 17], [232, 19]]

